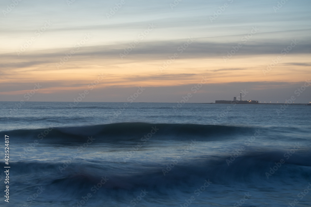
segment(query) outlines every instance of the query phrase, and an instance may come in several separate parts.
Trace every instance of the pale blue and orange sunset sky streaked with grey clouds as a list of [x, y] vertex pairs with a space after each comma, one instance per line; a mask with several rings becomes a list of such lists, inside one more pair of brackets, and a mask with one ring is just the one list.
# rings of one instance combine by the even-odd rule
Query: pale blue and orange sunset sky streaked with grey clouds
[[310, 6], [2, 0], [0, 101], [309, 103]]

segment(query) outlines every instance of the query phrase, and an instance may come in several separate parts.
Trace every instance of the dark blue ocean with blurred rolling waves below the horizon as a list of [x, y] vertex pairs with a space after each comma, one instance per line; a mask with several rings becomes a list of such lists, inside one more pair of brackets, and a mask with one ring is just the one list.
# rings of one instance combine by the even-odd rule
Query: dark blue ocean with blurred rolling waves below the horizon
[[0, 102], [0, 206], [310, 206], [311, 107], [280, 107]]

